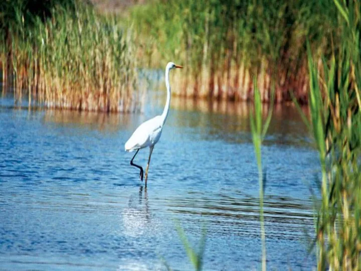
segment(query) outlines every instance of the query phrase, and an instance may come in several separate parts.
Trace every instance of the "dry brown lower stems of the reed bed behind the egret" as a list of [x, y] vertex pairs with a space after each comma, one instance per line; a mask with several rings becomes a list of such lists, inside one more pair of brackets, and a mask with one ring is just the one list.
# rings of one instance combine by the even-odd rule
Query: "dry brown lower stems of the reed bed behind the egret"
[[[210, 68], [212, 69], [212, 68]], [[293, 91], [300, 103], [307, 102], [308, 93], [308, 73], [302, 67], [297, 75], [286, 76], [285, 72], [272, 75], [266, 69], [252, 71], [241, 64], [230, 69], [229, 72], [219, 70], [213, 74], [207, 70], [202, 70], [202, 76], [194, 78], [190, 72], [186, 75], [174, 75], [174, 84], [177, 88], [172, 90], [173, 95], [180, 97], [196, 98], [216, 98], [218, 100], [248, 101], [253, 99], [254, 82], [252, 78], [257, 77], [257, 87], [261, 93], [263, 102], [270, 101], [271, 82], [273, 78], [281, 78], [275, 84], [275, 102], [289, 102]]]

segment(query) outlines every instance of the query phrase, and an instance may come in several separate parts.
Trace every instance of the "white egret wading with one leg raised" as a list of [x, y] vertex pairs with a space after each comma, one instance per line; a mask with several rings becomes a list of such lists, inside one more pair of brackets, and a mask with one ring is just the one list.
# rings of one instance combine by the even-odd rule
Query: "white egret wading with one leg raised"
[[140, 180], [143, 181], [143, 168], [133, 163], [133, 160], [140, 149], [149, 147], [149, 158], [147, 167], [145, 170], [145, 187], [148, 178], [148, 169], [150, 163], [150, 156], [153, 152], [154, 145], [159, 141], [161, 131], [165, 119], [168, 116], [169, 104], [170, 104], [170, 85], [169, 85], [169, 71], [174, 68], [183, 68], [182, 66], [175, 65], [173, 62], [168, 62], [165, 67], [165, 86], [167, 89], [167, 99], [161, 115], [155, 116], [139, 125], [138, 128], [133, 132], [131, 137], [125, 143], [125, 151], [132, 152], [136, 151], [133, 158], [130, 160], [130, 165], [140, 169]]

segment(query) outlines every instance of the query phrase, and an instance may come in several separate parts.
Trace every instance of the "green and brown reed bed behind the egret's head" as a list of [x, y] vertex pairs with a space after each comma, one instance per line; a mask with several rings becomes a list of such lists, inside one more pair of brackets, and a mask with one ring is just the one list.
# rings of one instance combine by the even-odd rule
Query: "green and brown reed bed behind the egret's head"
[[153, 0], [130, 14], [144, 64], [182, 63], [173, 91], [187, 97], [252, 100], [257, 76], [263, 102], [273, 80], [277, 102], [291, 100], [289, 90], [307, 102], [306, 38], [328, 53], [328, 34], [337, 33], [332, 0]]

